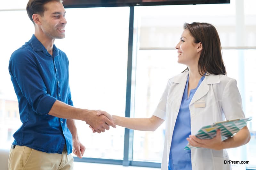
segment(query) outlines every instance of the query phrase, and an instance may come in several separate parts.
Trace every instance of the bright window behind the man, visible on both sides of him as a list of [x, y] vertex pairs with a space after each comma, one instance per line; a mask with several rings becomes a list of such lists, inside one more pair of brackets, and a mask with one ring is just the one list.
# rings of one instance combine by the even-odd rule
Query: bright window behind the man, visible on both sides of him
[[[68, 55], [74, 106], [124, 116], [129, 7], [66, 11], [66, 38], [55, 44]], [[8, 62], [12, 52], [31, 38], [34, 27], [26, 11], [0, 11], [0, 22], [5, 25], [0, 27], [0, 147], [9, 149], [21, 123]], [[86, 147], [84, 157], [123, 159], [124, 128], [98, 134], [82, 121], [76, 126]]]

